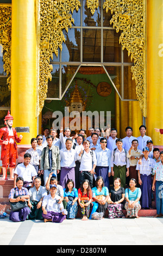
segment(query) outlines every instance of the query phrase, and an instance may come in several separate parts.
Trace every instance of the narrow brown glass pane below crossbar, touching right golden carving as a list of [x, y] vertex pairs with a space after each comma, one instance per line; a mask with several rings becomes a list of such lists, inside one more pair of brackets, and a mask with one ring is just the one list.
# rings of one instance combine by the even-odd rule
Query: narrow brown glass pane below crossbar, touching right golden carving
[[136, 83], [132, 80], [131, 66], [124, 66], [124, 99], [136, 100]]

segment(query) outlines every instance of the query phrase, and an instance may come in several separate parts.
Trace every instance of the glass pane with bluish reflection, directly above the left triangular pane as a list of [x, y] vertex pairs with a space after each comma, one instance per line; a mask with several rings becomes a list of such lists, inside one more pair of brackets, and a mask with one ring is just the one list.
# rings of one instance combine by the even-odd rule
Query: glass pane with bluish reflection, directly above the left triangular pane
[[80, 62], [80, 29], [64, 30], [65, 43], [62, 44], [62, 62]]

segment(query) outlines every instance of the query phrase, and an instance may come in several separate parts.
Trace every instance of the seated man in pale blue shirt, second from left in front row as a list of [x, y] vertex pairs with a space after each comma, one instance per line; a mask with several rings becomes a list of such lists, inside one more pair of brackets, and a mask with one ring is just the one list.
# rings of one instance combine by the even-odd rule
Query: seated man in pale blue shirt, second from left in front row
[[41, 186], [41, 178], [34, 178], [34, 186], [29, 189], [30, 195], [30, 214], [28, 220], [42, 220], [42, 200], [43, 197], [47, 196], [47, 190]]

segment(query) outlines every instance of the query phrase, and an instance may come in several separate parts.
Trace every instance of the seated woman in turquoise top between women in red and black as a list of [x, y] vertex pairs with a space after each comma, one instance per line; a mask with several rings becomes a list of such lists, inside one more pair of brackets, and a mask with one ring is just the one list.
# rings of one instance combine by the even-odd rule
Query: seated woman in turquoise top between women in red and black
[[102, 176], [98, 176], [95, 182], [95, 187], [92, 188], [92, 198], [98, 203], [97, 212], [103, 212], [103, 217], [105, 216], [105, 211], [108, 206], [109, 191], [108, 187], [104, 187], [104, 180]]

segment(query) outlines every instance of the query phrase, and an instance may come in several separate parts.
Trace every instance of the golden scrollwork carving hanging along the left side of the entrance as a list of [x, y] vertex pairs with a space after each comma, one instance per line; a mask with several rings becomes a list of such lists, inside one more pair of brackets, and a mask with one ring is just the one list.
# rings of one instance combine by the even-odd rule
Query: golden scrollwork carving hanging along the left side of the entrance
[[62, 50], [62, 42], [65, 41], [63, 29], [68, 31], [74, 22], [72, 13], [79, 9], [78, 0], [40, 0], [39, 1], [39, 78], [37, 84], [37, 111], [38, 116], [43, 108], [47, 95], [48, 79], [52, 80], [53, 66], [49, 64], [53, 60], [53, 53], [58, 56], [58, 48]]

